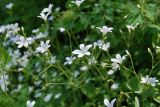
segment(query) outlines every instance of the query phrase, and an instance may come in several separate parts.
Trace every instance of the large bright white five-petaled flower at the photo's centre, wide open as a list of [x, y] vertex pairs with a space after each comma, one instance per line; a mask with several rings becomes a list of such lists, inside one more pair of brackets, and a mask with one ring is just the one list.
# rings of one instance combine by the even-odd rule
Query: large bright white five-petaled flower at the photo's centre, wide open
[[79, 47], [80, 50], [74, 50], [72, 53], [77, 54], [78, 57], [83, 57], [84, 55], [90, 55], [90, 52], [88, 50], [92, 47], [92, 45], [84, 46], [84, 44], [80, 44]]

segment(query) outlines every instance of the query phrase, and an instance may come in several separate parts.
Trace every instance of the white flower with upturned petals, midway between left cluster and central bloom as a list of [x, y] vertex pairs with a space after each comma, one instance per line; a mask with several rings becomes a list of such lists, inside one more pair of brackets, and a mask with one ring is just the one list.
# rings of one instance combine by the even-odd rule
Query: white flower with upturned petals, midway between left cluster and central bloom
[[49, 45], [50, 40], [47, 40], [46, 43], [44, 43], [44, 41], [41, 41], [40, 46], [36, 49], [37, 52], [41, 52], [44, 53], [48, 50], [48, 48], [50, 47]]

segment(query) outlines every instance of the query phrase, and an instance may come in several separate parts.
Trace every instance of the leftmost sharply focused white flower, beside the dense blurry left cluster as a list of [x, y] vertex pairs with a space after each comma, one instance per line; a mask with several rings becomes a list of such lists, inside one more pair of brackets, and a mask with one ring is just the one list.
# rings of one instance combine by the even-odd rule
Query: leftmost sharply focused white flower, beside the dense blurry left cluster
[[19, 38], [19, 41], [16, 42], [16, 44], [18, 44], [18, 48], [22, 48], [24, 47], [28, 47], [29, 44], [32, 43], [32, 38], [24, 38], [23, 36], [21, 36]]

